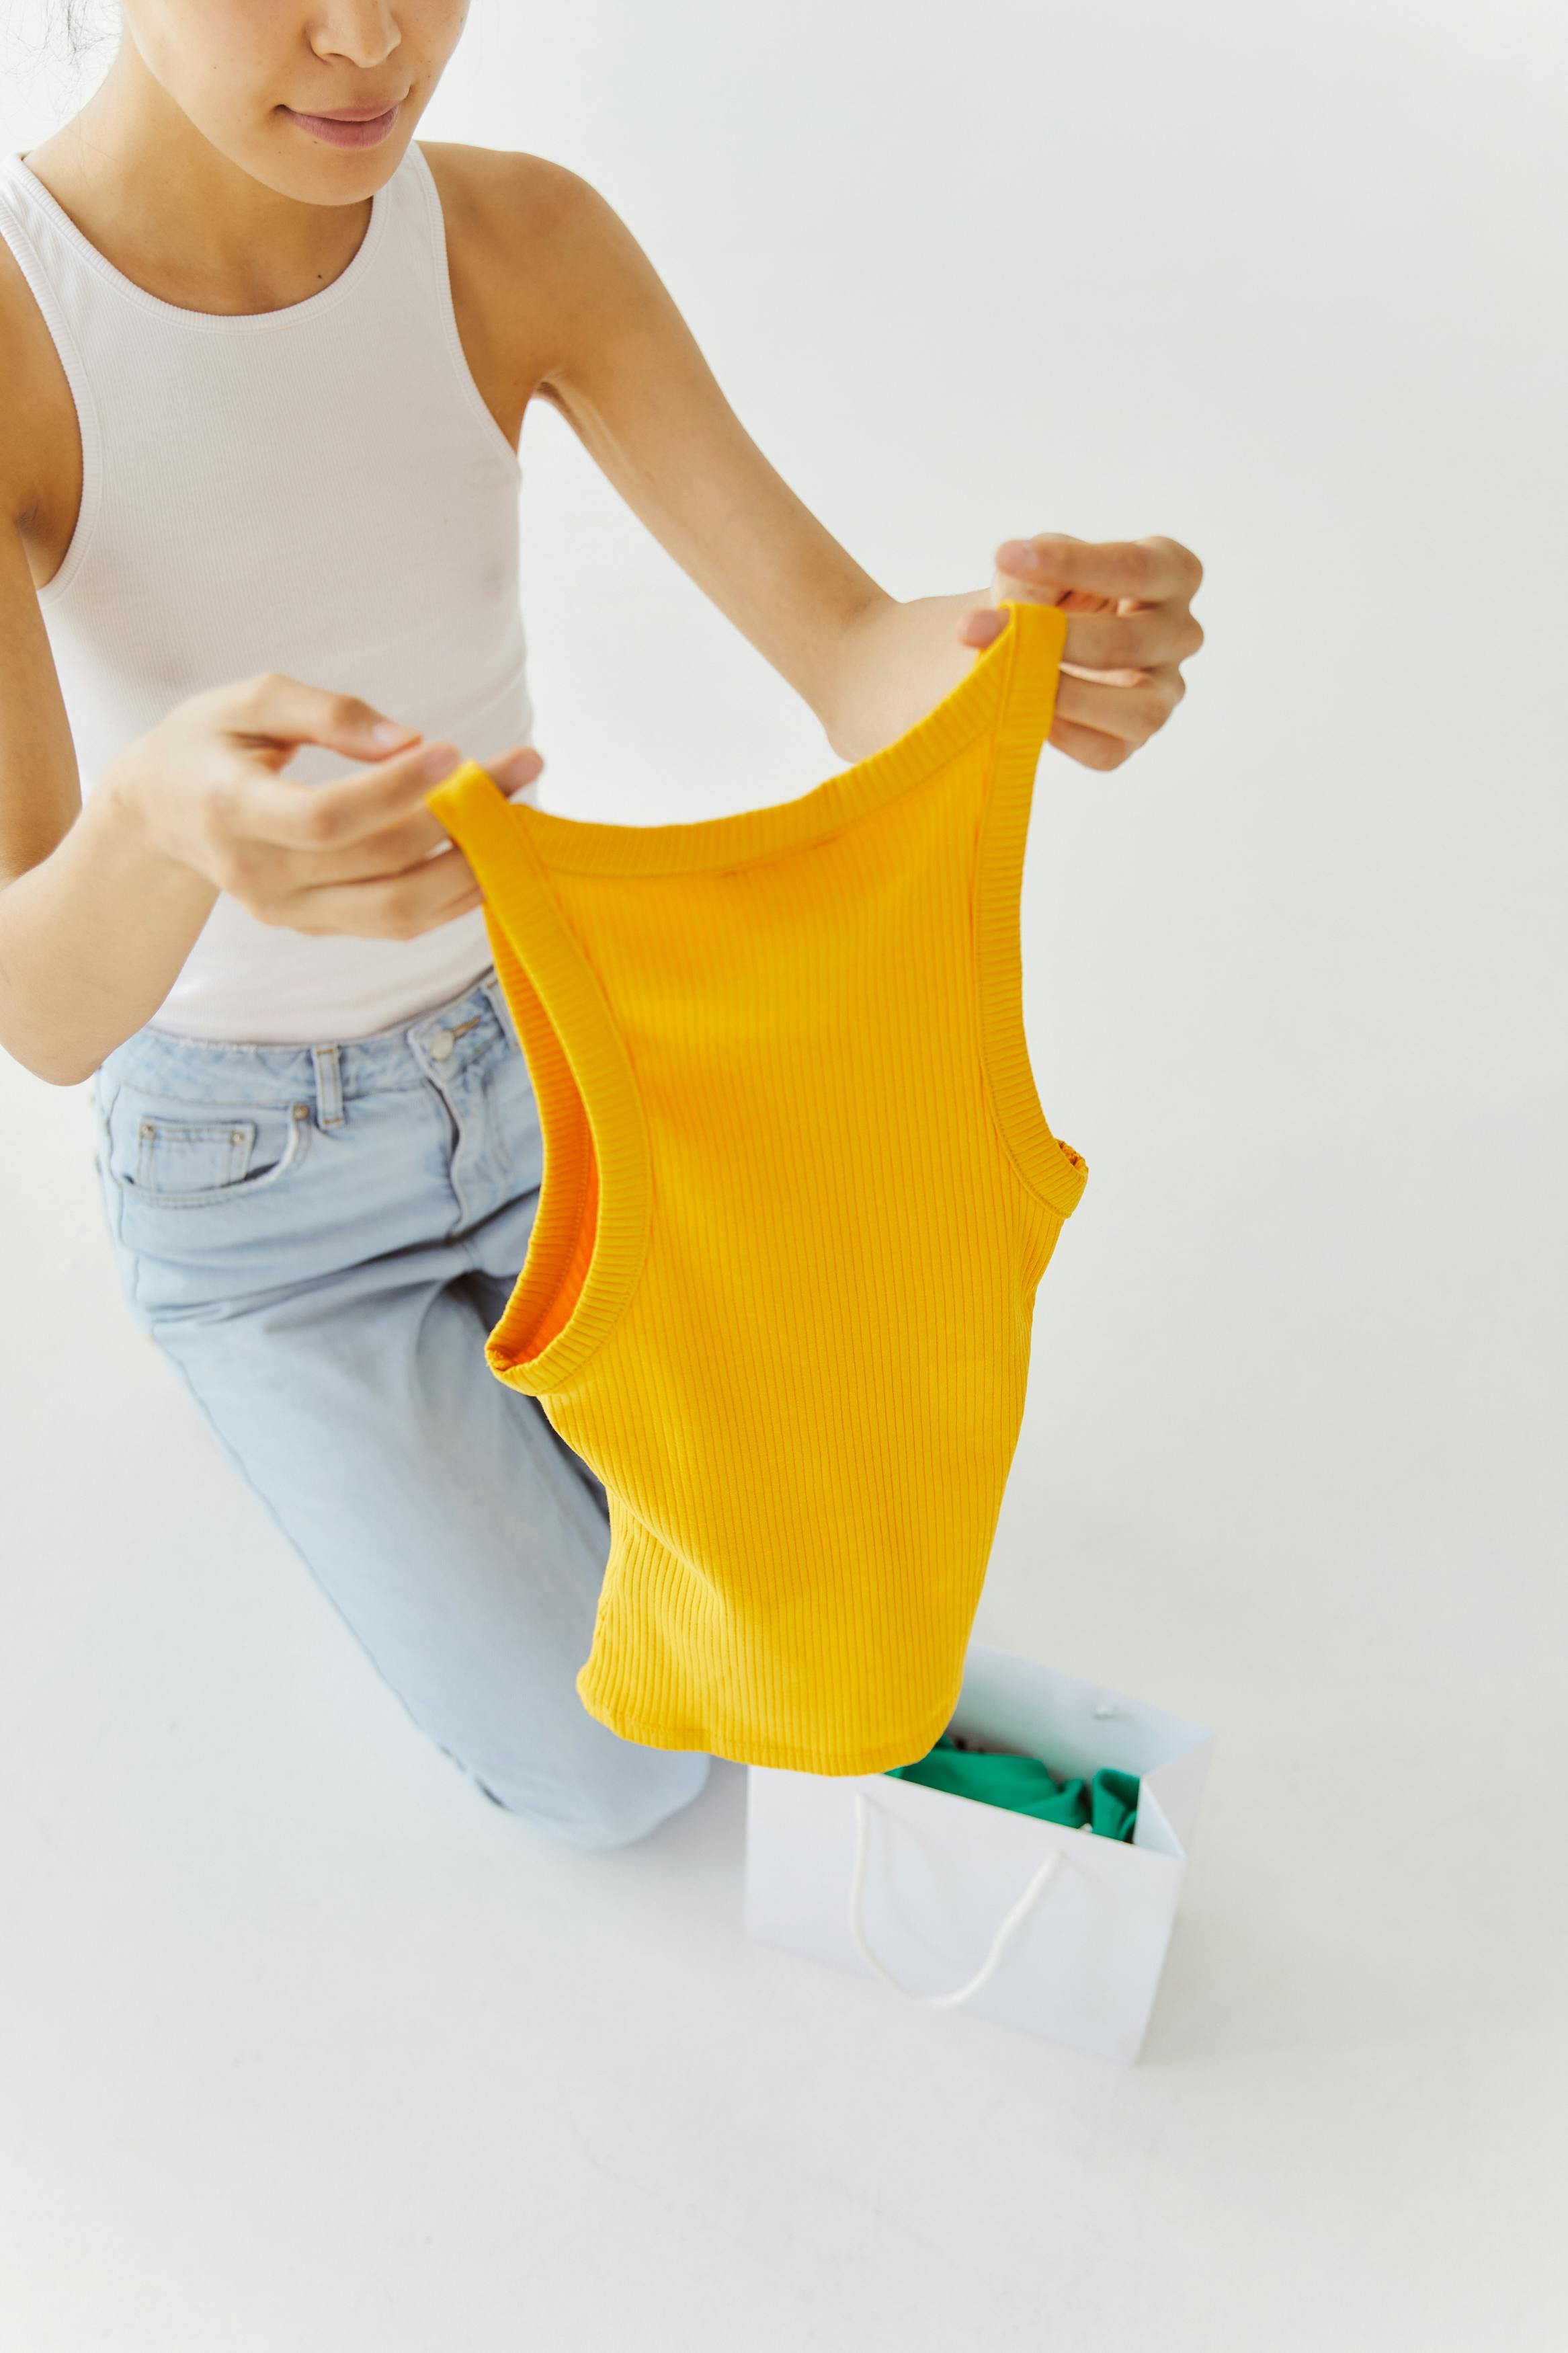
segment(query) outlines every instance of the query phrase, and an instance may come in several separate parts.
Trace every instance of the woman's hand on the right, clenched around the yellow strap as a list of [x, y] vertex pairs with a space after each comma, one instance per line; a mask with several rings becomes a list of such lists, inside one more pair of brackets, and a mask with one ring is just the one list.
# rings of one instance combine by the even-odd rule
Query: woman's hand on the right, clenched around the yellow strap
[[1084, 767], [1121, 767], [1166, 725], [1182, 694], [1182, 661], [1204, 642], [1192, 598], [1204, 567], [1175, 539], [1072, 539], [1037, 532], [997, 548], [992, 605], [959, 626], [985, 647], [1006, 626], [999, 602], [1060, 605], [1070, 614], [1048, 741]]

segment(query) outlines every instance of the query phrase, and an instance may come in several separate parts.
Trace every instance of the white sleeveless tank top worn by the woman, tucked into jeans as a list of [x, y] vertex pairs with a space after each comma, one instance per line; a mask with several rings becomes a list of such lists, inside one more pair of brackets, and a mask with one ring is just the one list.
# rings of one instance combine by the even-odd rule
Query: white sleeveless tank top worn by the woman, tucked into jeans
[[[416, 141], [376, 188], [348, 268], [284, 311], [160, 301], [16, 153], [0, 155], [0, 235], [82, 438], [75, 534], [40, 591], [82, 793], [174, 704], [259, 671], [362, 694], [480, 762], [531, 741], [522, 468], [463, 358]], [[306, 744], [282, 774], [324, 784], [364, 767]], [[322, 939], [256, 922], [221, 892], [150, 1026], [364, 1038], [489, 962], [480, 908], [421, 939]]]

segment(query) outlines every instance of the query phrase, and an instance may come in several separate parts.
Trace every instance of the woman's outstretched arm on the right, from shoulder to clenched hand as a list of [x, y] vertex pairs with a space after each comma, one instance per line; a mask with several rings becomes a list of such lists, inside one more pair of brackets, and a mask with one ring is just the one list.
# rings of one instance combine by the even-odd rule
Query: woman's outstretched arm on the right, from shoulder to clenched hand
[[484, 256], [463, 334], [484, 336], [480, 372], [508, 386], [503, 407], [520, 416], [534, 395], [559, 409], [654, 539], [804, 696], [842, 760], [903, 734], [964, 678], [1001, 598], [1070, 614], [1051, 727], [1060, 751], [1117, 767], [1164, 725], [1182, 694], [1180, 661], [1204, 642], [1190, 612], [1201, 567], [1187, 548], [1041, 536], [1034, 574], [997, 562], [990, 588], [886, 595], [762, 454], [649, 256], [588, 181], [538, 155], [430, 155], [468, 226], [461, 247]]

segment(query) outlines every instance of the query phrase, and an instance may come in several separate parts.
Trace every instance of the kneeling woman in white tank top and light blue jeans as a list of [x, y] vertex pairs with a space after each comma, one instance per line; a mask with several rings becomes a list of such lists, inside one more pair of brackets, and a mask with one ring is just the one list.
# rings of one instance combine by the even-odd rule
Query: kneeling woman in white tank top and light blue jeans
[[463, 755], [510, 793], [543, 765], [527, 402], [846, 762], [1039, 595], [1074, 614], [1051, 741], [1119, 765], [1180, 699], [1199, 565], [1037, 539], [990, 591], [886, 598], [585, 181], [414, 141], [463, 16], [125, 0], [99, 92], [0, 160], [0, 1042], [94, 1078], [132, 1313], [411, 1718], [496, 1802], [618, 1845], [708, 1758], [576, 1697], [604, 1489], [484, 1362], [541, 1132], [423, 807]]

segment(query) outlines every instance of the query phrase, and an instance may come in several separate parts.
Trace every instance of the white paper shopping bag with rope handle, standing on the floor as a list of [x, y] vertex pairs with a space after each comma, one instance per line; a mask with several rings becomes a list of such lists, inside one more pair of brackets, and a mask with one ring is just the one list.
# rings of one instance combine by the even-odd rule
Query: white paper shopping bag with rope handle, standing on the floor
[[[1058, 1779], [1138, 1774], [1131, 1842], [886, 1774], [748, 1767], [745, 1929], [1133, 2061], [1154, 2007], [1213, 1732], [971, 1645], [952, 1732]], [[893, 2000], [893, 1993], [889, 1993]]]

